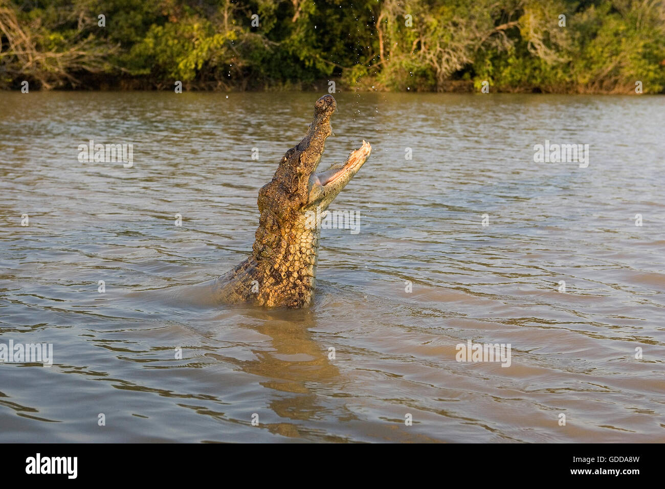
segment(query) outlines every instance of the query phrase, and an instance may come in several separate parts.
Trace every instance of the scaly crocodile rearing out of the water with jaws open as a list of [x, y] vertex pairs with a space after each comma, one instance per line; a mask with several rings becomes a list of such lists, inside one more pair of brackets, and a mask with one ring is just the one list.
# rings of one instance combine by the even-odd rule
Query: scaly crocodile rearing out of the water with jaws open
[[273, 180], [259, 190], [261, 217], [252, 254], [216, 279], [218, 301], [289, 309], [312, 303], [321, 226], [311, 216], [317, 208], [328, 208], [372, 151], [363, 140], [345, 162], [316, 172], [335, 110], [332, 95], [317, 100], [307, 134], [286, 152]]

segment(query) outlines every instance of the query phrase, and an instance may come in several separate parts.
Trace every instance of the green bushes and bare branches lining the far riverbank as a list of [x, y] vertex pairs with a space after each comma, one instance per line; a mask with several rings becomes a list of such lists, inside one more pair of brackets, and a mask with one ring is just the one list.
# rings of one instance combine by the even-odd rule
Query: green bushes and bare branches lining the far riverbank
[[665, 91], [662, 0], [0, 0], [0, 88]]

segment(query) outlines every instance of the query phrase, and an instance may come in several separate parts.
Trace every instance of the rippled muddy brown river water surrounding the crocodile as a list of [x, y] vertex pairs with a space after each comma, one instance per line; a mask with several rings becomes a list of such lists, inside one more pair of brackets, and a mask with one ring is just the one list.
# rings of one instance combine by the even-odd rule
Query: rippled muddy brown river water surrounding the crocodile
[[320, 95], [0, 93], [0, 440], [665, 441], [665, 98], [338, 94], [315, 304], [207, 304]]

